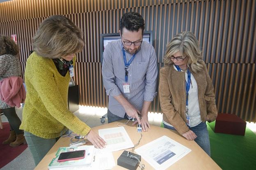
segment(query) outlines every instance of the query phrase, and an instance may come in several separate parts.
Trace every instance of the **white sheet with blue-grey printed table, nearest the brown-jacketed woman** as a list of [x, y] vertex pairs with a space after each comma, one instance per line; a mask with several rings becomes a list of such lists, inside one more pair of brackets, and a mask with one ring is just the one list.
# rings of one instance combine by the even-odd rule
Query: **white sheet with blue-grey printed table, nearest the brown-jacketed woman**
[[135, 149], [135, 152], [141, 155], [154, 169], [165, 170], [191, 150], [167, 136], [162, 136]]

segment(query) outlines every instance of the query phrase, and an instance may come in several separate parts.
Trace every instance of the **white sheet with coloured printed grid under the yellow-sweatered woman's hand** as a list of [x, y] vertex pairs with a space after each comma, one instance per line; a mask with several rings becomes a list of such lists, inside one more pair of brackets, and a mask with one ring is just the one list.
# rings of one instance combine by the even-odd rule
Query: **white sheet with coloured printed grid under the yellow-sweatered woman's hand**
[[100, 129], [98, 133], [107, 142], [106, 148], [103, 149], [105, 152], [114, 152], [134, 147], [133, 142], [123, 127]]

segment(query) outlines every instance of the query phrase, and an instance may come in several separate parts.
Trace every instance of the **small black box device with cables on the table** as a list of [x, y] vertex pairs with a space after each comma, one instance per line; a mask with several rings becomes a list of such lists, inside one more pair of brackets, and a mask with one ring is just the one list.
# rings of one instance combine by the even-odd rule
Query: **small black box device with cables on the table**
[[139, 166], [139, 161], [141, 161], [141, 156], [128, 151], [123, 151], [121, 156], [117, 159], [117, 165], [126, 168], [128, 170], [136, 170]]

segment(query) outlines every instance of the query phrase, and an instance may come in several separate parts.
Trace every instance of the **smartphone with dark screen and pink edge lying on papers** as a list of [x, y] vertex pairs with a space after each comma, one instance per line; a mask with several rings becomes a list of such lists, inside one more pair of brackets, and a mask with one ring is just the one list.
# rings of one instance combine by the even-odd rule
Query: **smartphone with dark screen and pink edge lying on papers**
[[85, 158], [85, 150], [75, 150], [71, 152], [62, 152], [59, 154], [58, 162], [71, 161]]

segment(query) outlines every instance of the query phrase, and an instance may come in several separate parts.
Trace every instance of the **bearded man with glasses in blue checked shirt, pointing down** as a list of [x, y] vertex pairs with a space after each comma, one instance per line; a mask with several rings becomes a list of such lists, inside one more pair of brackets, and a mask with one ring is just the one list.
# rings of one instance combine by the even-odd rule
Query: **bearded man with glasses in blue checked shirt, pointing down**
[[157, 62], [155, 49], [142, 41], [144, 19], [128, 12], [120, 20], [121, 39], [108, 43], [103, 53], [102, 76], [109, 96], [108, 123], [137, 119], [133, 124], [150, 129], [148, 111], [156, 96]]

